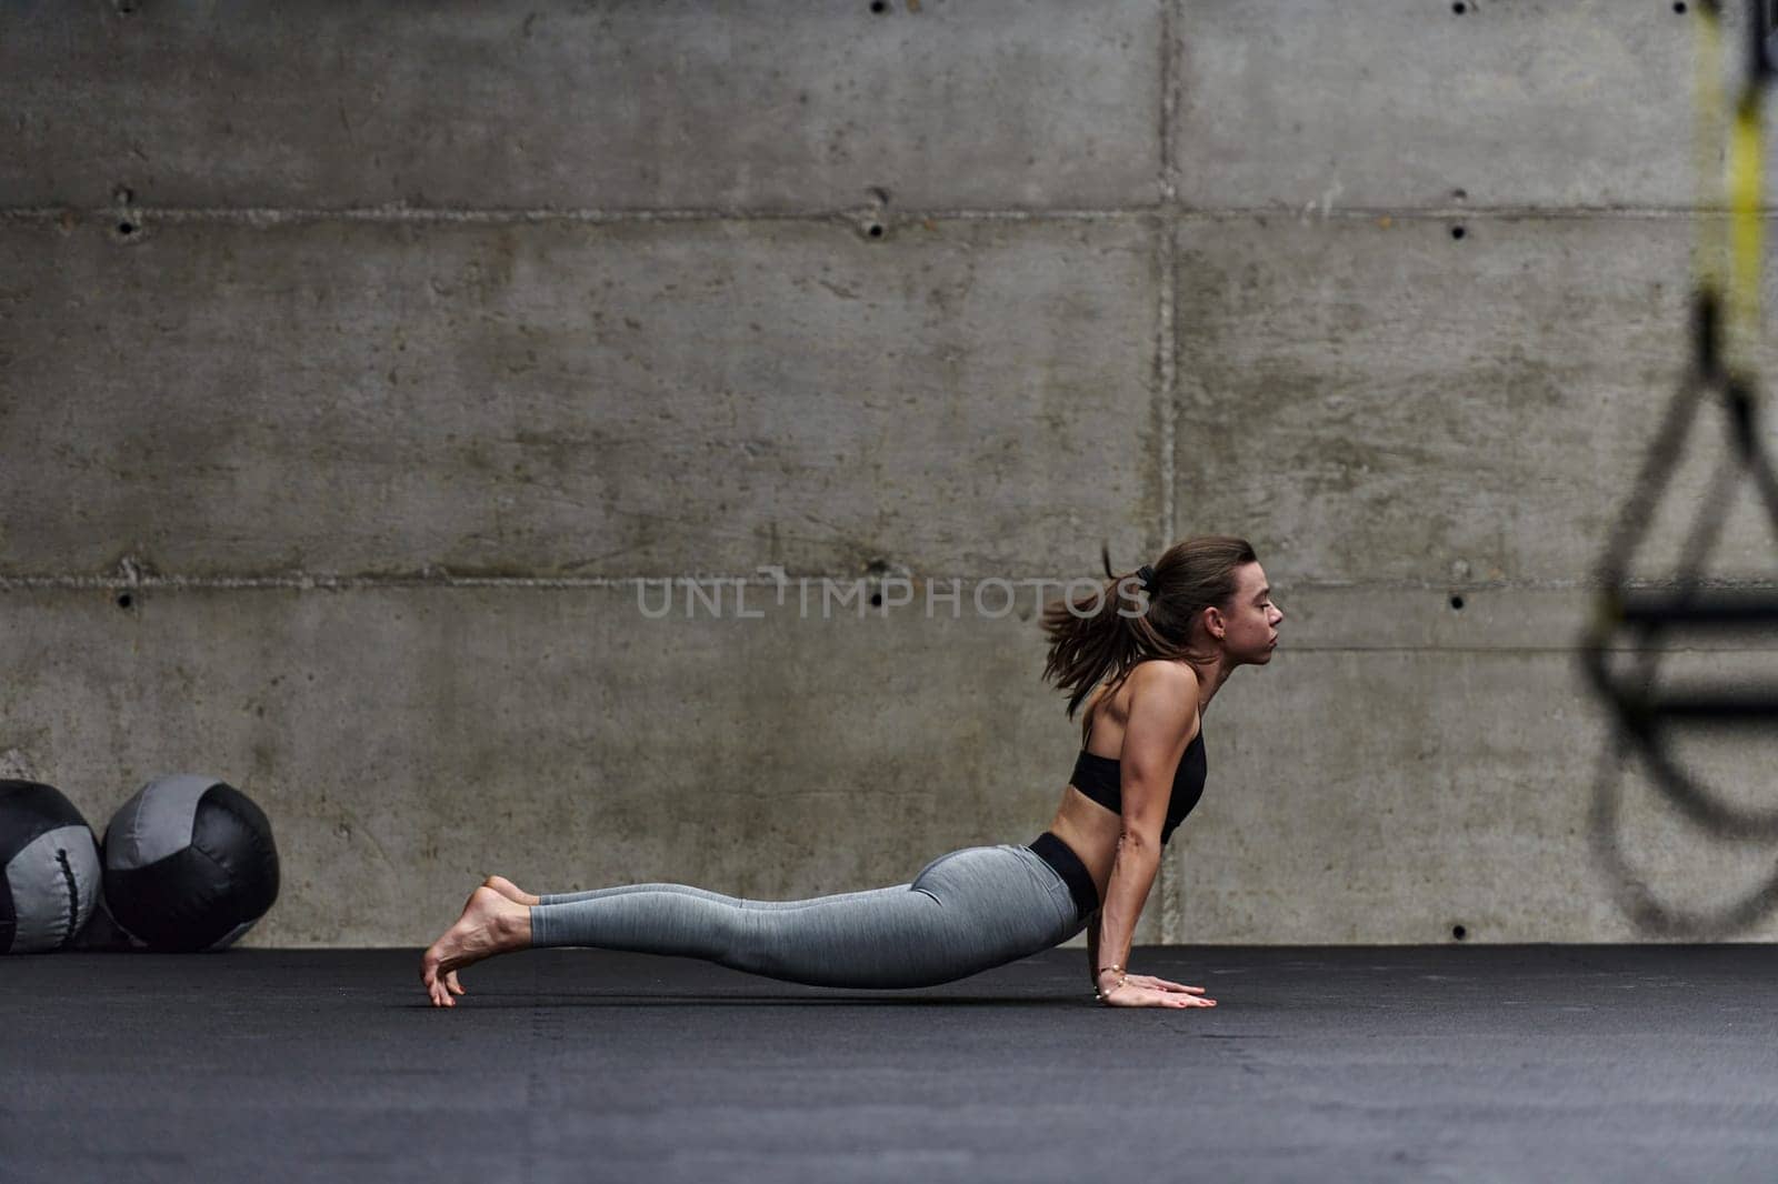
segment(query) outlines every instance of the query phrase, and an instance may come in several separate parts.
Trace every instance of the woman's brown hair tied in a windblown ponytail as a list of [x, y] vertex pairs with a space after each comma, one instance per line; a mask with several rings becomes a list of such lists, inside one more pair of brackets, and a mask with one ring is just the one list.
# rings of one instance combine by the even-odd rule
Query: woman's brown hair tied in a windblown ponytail
[[[1106, 677], [1118, 686], [1138, 661], [1184, 658], [1191, 647], [1191, 622], [1205, 608], [1227, 612], [1234, 601], [1234, 572], [1259, 556], [1245, 539], [1198, 535], [1175, 542], [1154, 562], [1150, 592], [1134, 572], [1115, 574], [1111, 551], [1099, 548], [1106, 585], [1074, 601], [1051, 601], [1042, 628], [1049, 635], [1044, 681], [1069, 695], [1069, 718]], [[1086, 743], [1092, 711], [1081, 720]]]

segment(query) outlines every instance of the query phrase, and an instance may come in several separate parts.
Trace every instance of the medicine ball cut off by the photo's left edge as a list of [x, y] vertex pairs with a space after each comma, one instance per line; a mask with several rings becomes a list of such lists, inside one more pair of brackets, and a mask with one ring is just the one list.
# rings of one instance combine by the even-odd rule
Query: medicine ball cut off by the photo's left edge
[[60, 949], [100, 898], [92, 827], [55, 786], [0, 780], [0, 953]]

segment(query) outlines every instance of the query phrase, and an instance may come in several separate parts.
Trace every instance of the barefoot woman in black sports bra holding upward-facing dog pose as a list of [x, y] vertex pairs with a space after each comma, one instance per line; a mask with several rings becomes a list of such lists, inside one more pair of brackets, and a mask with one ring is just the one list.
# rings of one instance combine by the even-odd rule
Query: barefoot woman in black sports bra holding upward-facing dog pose
[[1086, 928], [1109, 1006], [1214, 1006], [1202, 987], [1129, 974], [1136, 917], [1161, 848], [1204, 791], [1202, 716], [1241, 665], [1264, 665], [1284, 613], [1243, 539], [1175, 544], [1044, 610], [1044, 679], [1088, 697], [1074, 777], [1029, 844], [967, 846], [909, 884], [813, 900], [741, 900], [685, 884], [532, 896], [503, 876], [475, 889], [420, 964], [434, 1006], [457, 971], [509, 949], [599, 946], [706, 958], [823, 987], [926, 987], [1049, 949]]

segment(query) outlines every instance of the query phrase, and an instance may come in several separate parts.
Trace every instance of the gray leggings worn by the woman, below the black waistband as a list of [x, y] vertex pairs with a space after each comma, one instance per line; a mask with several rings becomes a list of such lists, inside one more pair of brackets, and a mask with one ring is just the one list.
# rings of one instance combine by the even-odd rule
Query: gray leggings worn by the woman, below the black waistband
[[1024, 958], [1086, 926], [1029, 846], [939, 855], [909, 884], [811, 900], [741, 900], [685, 884], [557, 892], [532, 905], [532, 946], [704, 958], [816, 987], [930, 987]]

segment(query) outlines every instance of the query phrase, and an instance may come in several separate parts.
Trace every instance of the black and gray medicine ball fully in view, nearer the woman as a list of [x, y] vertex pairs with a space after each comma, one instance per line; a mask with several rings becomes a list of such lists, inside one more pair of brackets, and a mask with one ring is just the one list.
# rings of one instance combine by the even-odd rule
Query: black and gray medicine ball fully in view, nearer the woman
[[215, 777], [156, 777], [105, 827], [105, 908], [149, 949], [222, 949], [276, 900], [272, 823]]

